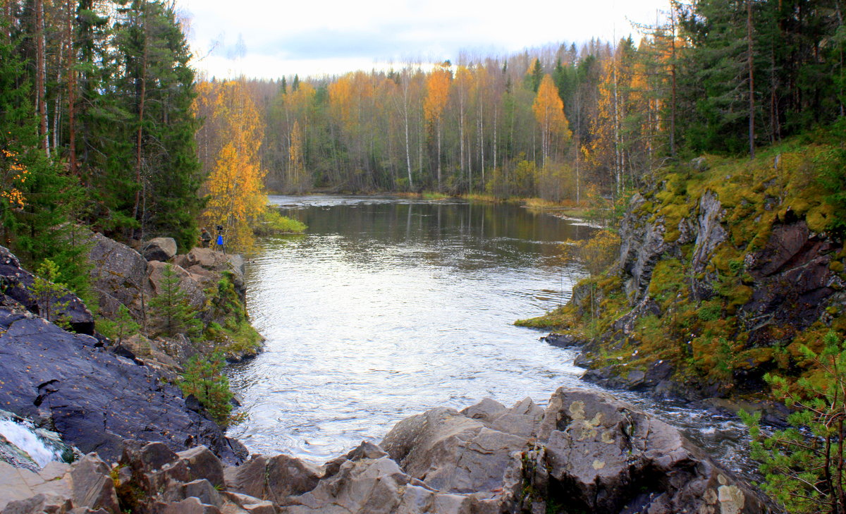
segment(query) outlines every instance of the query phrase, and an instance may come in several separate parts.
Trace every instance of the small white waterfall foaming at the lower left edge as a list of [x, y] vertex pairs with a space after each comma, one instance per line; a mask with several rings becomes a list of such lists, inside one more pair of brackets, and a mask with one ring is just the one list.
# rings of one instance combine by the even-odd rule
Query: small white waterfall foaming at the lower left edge
[[30, 421], [0, 411], [0, 460], [23, 468], [43, 468], [47, 462], [73, 458], [58, 435], [38, 429]]

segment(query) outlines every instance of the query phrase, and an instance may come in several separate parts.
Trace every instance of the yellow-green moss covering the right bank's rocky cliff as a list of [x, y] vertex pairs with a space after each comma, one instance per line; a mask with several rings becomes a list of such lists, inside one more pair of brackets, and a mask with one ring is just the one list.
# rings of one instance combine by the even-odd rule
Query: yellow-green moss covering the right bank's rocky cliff
[[[648, 216], [649, 223], [661, 222], [664, 241], [673, 243], [681, 235], [679, 223], [685, 218], [696, 223], [702, 195], [711, 191], [722, 205], [721, 222], [728, 238], [709, 256], [705, 271], [697, 270], [695, 276], [689, 268], [692, 244], [662, 256], [647, 290], [661, 314], [636, 320], [631, 333], [613, 329], [614, 321], [632, 307], [623, 294], [623, 283], [613, 276], [594, 282], [599, 298], [596, 317], [587, 309], [567, 306], [519, 323], [565, 326], [569, 331], [596, 336], [594, 357], [602, 361], [596, 365], [614, 365], [621, 374], [656, 358], [667, 358], [676, 365], [680, 380], [711, 386], [730, 387], [734, 369], [781, 369], [794, 379], [807, 375], [811, 364], [802, 358], [799, 348], [817, 344], [823, 331], [846, 333], [846, 316], [840, 309], [827, 309], [830, 326], [800, 333], [792, 326], [766, 325], [758, 329], [754, 345], [736, 314], [750, 302], [755, 287], [744, 262], [750, 253], [770, 244], [774, 226], [798, 216], [811, 231], [820, 233], [838, 216], [822, 200], [826, 192], [819, 183], [821, 165], [816, 157], [826, 150], [825, 145], [794, 139], [762, 149], [752, 161], [707, 156], [710, 167], [706, 172], [677, 165], [664, 172], [654, 191], [641, 192], [647, 200], [635, 214]], [[840, 249], [829, 267], [846, 280], [844, 263], [846, 249]], [[703, 302], [691, 298], [689, 282], [694, 278], [710, 283], [717, 295]]]

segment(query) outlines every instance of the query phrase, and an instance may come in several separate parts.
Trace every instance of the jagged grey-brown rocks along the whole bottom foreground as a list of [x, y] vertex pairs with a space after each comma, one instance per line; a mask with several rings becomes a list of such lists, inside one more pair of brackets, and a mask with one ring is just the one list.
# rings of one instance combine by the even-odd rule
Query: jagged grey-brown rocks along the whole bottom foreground
[[560, 389], [549, 407], [490, 399], [435, 408], [320, 467], [254, 455], [228, 466], [202, 446], [124, 441], [32, 473], [0, 463], [3, 514], [774, 512], [673, 427], [613, 397]]

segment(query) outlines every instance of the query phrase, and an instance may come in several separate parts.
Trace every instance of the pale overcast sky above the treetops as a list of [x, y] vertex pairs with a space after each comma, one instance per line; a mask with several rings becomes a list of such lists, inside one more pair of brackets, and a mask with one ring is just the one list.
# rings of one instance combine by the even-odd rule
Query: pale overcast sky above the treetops
[[[635, 34], [667, 0], [177, 0], [195, 67], [244, 74], [343, 74]], [[210, 52], [211, 51], [211, 52]]]

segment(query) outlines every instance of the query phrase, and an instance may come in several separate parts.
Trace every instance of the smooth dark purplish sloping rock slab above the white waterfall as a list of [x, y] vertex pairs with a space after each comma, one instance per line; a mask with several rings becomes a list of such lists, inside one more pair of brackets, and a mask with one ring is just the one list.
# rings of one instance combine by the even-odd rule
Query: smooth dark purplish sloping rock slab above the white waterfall
[[175, 451], [205, 445], [227, 462], [245, 457], [243, 446], [185, 407], [181, 392], [148, 367], [104, 351], [92, 336], [2, 305], [0, 376], [0, 405], [52, 424], [69, 444], [107, 460], [129, 438]]

